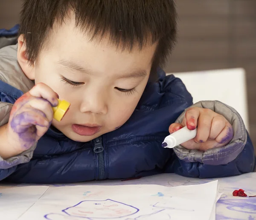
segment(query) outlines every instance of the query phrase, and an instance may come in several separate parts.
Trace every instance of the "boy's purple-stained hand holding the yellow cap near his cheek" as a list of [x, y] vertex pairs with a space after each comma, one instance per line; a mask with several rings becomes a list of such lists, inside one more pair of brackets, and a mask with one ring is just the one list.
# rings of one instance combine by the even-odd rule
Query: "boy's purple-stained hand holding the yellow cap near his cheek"
[[17, 154], [32, 147], [52, 123], [52, 106], [58, 95], [44, 83], [38, 83], [23, 94], [12, 107], [7, 124], [7, 140]]

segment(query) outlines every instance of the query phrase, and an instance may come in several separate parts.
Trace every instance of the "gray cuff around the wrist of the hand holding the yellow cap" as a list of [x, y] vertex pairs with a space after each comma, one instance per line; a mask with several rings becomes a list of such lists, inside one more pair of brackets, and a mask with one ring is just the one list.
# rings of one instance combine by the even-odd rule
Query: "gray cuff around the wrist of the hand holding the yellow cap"
[[[12, 104], [0, 102], [0, 126], [3, 126], [4, 124], [8, 123], [11, 109]], [[0, 157], [0, 169], [8, 169], [20, 163], [29, 162], [29, 160], [31, 160], [33, 156], [36, 144], [37, 143], [35, 143], [35, 145], [32, 146], [30, 149], [23, 151], [21, 154], [15, 157], [10, 157], [6, 160], [3, 160], [3, 158]]]

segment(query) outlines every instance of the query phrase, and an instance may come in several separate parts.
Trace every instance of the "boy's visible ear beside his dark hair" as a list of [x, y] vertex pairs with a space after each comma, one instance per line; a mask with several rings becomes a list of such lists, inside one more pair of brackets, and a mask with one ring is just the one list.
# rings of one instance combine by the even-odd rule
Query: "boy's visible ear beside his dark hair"
[[31, 65], [26, 56], [26, 42], [23, 34], [18, 38], [18, 52], [17, 52], [18, 63], [23, 70], [26, 77], [30, 80], [35, 80], [35, 65]]

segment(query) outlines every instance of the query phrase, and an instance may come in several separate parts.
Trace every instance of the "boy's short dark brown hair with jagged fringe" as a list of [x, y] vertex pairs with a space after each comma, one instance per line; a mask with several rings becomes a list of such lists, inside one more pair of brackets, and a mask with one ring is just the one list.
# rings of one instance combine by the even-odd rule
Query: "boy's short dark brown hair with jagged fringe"
[[163, 67], [176, 39], [174, 0], [24, 0], [20, 32], [26, 55], [34, 63], [55, 22], [62, 23], [69, 11], [76, 26], [92, 37], [109, 34], [110, 42], [124, 49], [147, 43], [158, 46], [152, 69]]

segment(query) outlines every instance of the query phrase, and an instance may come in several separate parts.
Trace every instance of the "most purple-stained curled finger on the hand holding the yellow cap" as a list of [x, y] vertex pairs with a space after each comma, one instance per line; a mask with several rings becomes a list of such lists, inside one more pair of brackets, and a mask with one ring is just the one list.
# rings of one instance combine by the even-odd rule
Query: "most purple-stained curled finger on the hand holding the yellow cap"
[[16, 114], [11, 122], [12, 130], [16, 133], [24, 133], [32, 125], [39, 127], [49, 127], [49, 121], [38, 110], [35, 111], [23, 111], [20, 114]]

